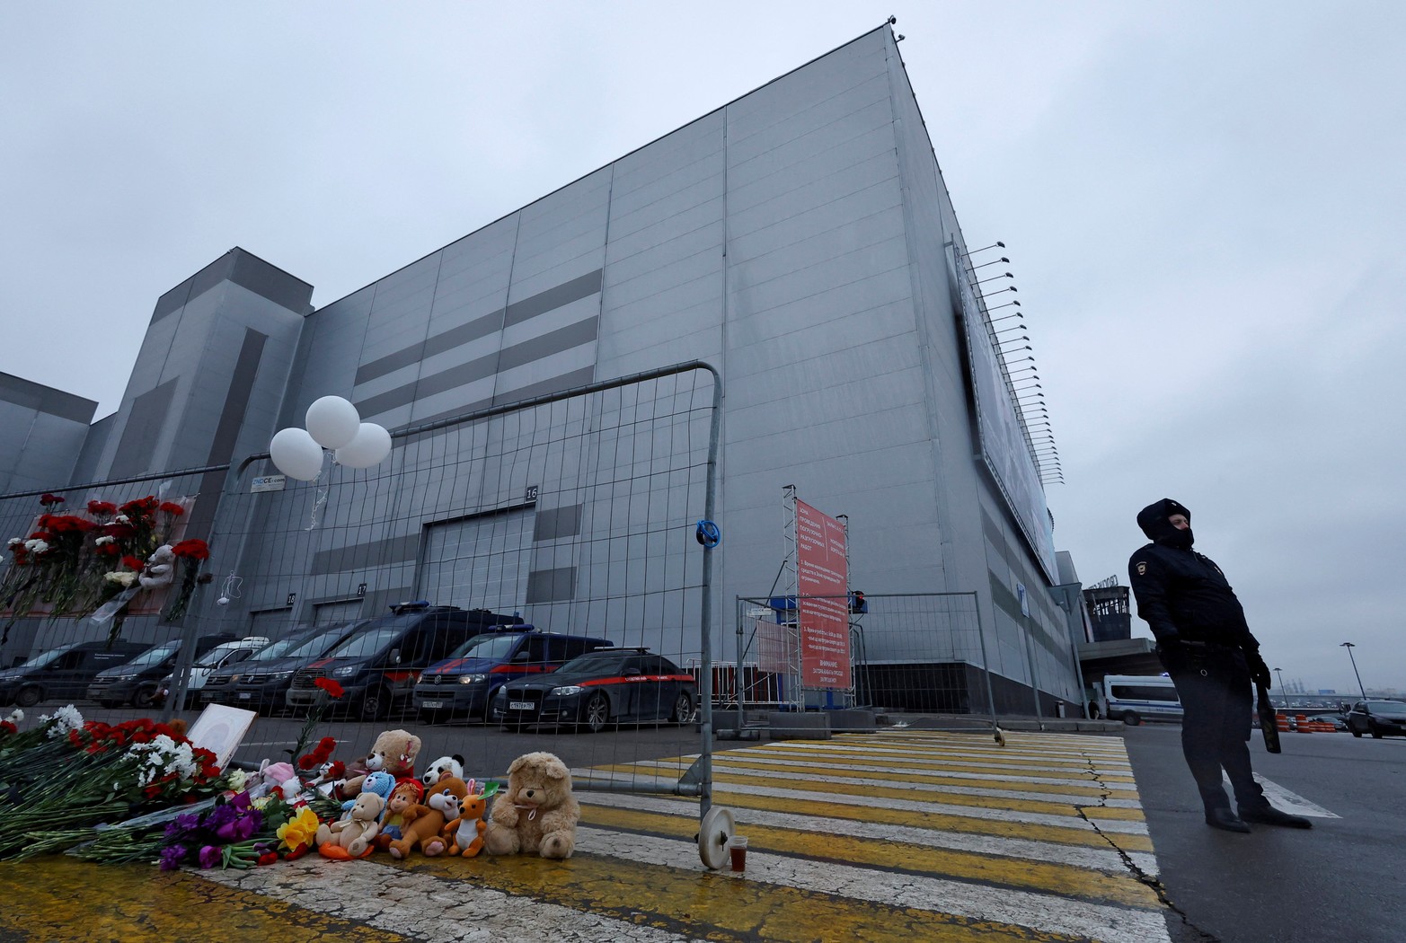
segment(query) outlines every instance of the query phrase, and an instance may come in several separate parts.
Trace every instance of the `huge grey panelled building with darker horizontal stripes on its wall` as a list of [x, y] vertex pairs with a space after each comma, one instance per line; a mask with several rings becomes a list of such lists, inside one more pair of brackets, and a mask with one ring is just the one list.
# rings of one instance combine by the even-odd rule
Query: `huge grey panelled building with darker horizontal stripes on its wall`
[[[118, 413], [87, 444], [86, 422], [67, 419], [67, 465], [13, 471], [8, 490], [238, 462], [325, 395], [396, 430], [699, 360], [723, 384], [718, 658], [731, 658], [731, 600], [772, 587], [782, 490], [794, 485], [848, 517], [852, 586], [976, 593], [998, 700], [1029, 703], [1035, 686], [1081, 704], [1067, 616], [1049, 592], [1059, 573], [980, 460], [963, 330], [979, 312], [962, 311], [953, 284], [965, 264], [883, 27], [322, 308], [311, 285], [231, 250], [157, 301]], [[218, 502], [207, 499], [226, 485], [221, 471], [201, 481], [191, 533], [209, 527]], [[415, 592], [418, 555], [440, 540], [423, 527], [468, 513], [443, 505], [430, 478], [415, 481], [425, 513], [401, 533], [315, 534], [297, 551], [304, 572], [266, 575], [245, 611], [298, 586], [343, 613]], [[571, 606], [599, 596], [581, 557], [591, 541], [554, 540], [589, 535], [600, 516], [589, 499], [519, 502], [515, 488], [475, 497], [520, 548], [492, 607], [591, 627], [606, 610]], [[697, 513], [688, 505], [676, 516]], [[257, 555], [249, 538], [243, 552]], [[661, 552], [683, 568], [700, 559], [696, 547]], [[297, 569], [290, 559], [280, 566]], [[314, 571], [328, 582], [309, 594]], [[697, 634], [696, 586], [686, 594], [682, 652]]]

